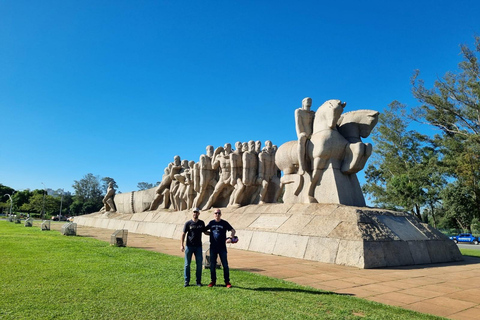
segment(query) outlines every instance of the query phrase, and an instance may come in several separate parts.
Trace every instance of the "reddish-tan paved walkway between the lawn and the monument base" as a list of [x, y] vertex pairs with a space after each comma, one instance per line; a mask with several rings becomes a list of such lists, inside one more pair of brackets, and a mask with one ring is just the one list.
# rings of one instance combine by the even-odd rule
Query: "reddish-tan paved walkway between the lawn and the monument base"
[[[61, 225], [52, 225], [52, 229]], [[110, 241], [112, 230], [77, 227], [80, 236]], [[241, 239], [240, 239], [241, 241]], [[129, 247], [183, 256], [180, 241], [129, 233]], [[480, 259], [450, 264], [358, 269], [229, 249], [230, 267], [317, 289], [451, 319], [480, 319]], [[233, 283], [235, 286], [235, 283]]]

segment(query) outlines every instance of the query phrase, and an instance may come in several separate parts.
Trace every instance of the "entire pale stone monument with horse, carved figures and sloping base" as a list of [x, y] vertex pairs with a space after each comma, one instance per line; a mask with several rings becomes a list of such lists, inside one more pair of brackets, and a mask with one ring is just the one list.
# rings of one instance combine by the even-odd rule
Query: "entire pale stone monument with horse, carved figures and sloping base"
[[303, 99], [294, 112], [297, 139], [278, 149], [250, 140], [233, 151], [230, 143], [208, 146], [198, 163], [175, 156], [157, 188], [113, 198], [109, 187], [105, 210], [117, 213], [75, 221], [179, 239], [187, 209], [226, 207], [223, 216], [242, 239], [237, 249], [359, 268], [462, 260], [451, 240], [413, 215], [365, 206], [356, 173], [372, 154], [362, 138], [379, 113], [344, 112], [340, 100], [315, 112], [311, 105]]

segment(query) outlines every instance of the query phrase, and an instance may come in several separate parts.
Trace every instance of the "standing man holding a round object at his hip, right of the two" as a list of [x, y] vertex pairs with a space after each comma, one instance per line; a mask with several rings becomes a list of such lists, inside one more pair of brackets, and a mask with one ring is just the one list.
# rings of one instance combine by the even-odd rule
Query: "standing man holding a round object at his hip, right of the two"
[[205, 230], [210, 230], [210, 277], [212, 282], [208, 285], [213, 287], [217, 283], [217, 256], [220, 256], [220, 261], [223, 266], [223, 278], [225, 279], [225, 286], [231, 288], [230, 284], [230, 269], [228, 268], [227, 260], [227, 231], [231, 231], [231, 237], [235, 236], [235, 229], [230, 223], [222, 220], [222, 212], [220, 209], [214, 211], [215, 219], [210, 221], [205, 227]]

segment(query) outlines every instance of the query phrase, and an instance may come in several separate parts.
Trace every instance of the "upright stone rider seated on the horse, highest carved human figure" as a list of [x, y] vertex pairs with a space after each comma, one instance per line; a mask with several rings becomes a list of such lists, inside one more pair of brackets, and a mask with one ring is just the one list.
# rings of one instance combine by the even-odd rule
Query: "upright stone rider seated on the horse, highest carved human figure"
[[307, 167], [307, 142], [312, 137], [315, 112], [310, 110], [312, 99], [307, 97], [302, 100], [302, 108], [295, 110], [295, 129], [298, 138], [298, 174], [303, 175], [310, 171]]

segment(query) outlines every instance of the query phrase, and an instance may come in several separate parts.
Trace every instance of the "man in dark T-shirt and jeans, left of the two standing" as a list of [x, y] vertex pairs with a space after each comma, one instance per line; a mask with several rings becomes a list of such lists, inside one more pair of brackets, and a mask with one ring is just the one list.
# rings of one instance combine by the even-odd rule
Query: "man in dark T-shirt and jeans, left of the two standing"
[[[198, 219], [200, 209], [193, 209], [192, 220], [187, 221], [183, 227], [182, 233], [182, 252], [185, 252], [185, 285], [190, 285], [190, 263], [192, 262], [192, 254], [195, 254], [195, 262], [197, 263], [197, 286], [202, 286], [202, 232], [205, 231], [205, 222]], [[185, 236], [187, 236], [187, 247], [185, 248]]]

